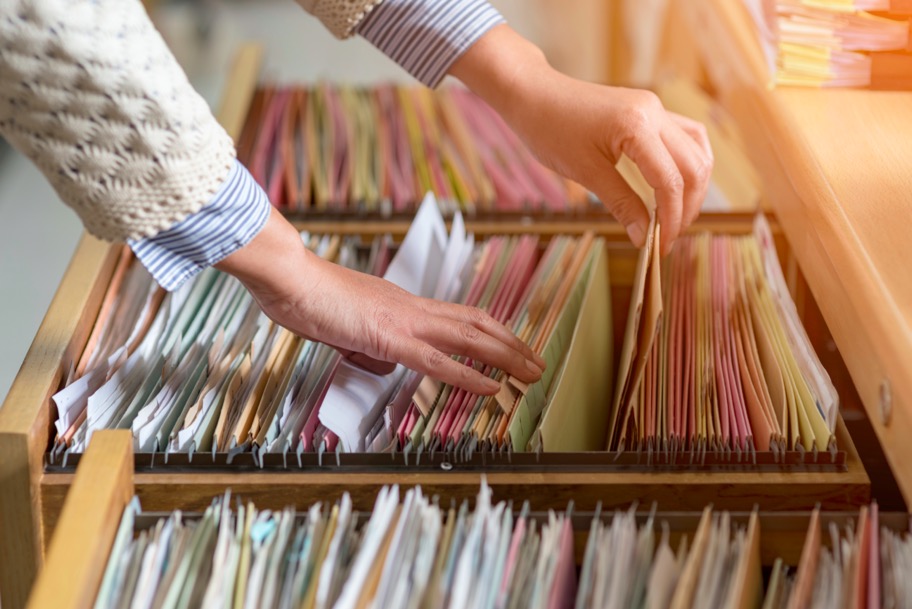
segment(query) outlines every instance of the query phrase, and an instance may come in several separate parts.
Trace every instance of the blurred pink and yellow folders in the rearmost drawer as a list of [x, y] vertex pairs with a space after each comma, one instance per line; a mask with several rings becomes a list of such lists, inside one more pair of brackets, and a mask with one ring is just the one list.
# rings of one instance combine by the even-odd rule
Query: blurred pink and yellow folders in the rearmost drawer
[[[288, 213], [567, 212], [588, 193], [546, 169], [469, 91], [319, 84], [257, 91], [238, 156]], [[602, 209], [597, 206], [593, 209]]]

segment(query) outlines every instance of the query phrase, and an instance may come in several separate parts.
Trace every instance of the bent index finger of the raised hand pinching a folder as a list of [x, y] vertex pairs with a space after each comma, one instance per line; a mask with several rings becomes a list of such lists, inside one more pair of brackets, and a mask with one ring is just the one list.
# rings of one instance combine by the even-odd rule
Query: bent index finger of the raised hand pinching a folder
[[[681, 232], [684, 178], [661, 137], [640, 134], [628, 140], [624, 151], [655, 190], [656, 212], [662, 225], [662, 243], [673, 243]], [[664, 248], [663, 248], [664, 249]]]

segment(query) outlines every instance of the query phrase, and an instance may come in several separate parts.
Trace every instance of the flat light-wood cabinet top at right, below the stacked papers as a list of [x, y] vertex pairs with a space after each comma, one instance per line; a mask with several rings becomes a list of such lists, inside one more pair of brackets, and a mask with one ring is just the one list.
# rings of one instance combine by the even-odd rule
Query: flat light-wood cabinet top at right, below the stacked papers
[[[912, 342], [912, 93], [781, 88], [774, 92], [826, 179], [817, 230], [866, 266]], [[829, 195], [829, 196], [827, 196]], [[819, 227], [824, 227], [823, 229]]]

